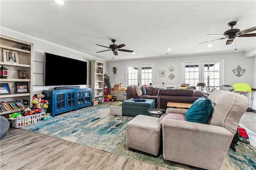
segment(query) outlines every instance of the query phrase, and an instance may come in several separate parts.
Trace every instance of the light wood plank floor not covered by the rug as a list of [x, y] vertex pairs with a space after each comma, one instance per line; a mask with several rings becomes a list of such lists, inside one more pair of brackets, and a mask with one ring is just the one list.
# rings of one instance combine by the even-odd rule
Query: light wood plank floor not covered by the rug
[[[241, 123], [256, 132], [256, 113], [246, 112]], [[0, 169], [166, 170], [102, 150], [13, 127], [10, 127], [0, 140]]]

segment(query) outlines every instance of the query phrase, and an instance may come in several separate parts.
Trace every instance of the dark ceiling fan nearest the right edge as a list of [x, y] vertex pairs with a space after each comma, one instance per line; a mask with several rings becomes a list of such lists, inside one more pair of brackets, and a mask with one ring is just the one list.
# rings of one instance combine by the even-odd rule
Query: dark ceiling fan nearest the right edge
[[[224, 38], [219, 38], [219, 39], [216, 39], [216, 40], [222, 40], [222, 39], [228, 38], [228, 40], [226, 41], [226, 45], [231, 44], [236, 37], [256, 37], [256, 33], [246, 34], [248, 32], [255, 31], [256, 26], [252, 27], [252, 28], [248, 28], [246, 30], [240, 31], [237, 28], [233, 29], [233, 26], [235, 26], [235, 25], [236, 25], [236, 21], [230, 22], [230, 23], [228, 23], [228, 26], [231, 27], [230, 30], [226, 30], [223, 34], [207, 34], [207, 36], [225, 36]], [[208, 42], [212, 42], [212, 41], [215, 41], [215, 40], [211, 40], [211, 41], [208, 41]], [[207, 43], [207, 42], [203, 42], [203, 43]]]

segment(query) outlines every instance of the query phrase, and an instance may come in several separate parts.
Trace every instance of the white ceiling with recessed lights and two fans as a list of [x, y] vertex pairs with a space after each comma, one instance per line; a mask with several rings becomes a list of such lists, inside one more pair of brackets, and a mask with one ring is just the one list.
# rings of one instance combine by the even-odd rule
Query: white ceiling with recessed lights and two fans
[[[1, 0], [1, 27], [113, 61], [112, 51], [95, 44], [109, 46], [111, 39], [121, 49], [114, 61], [149, 57], [173, 57], [207, 53], [246, 51], [256, 47], [256, 37], [215, 40], [234, 28], [245, 30], [256, 26], [256, 0], [66, 0], [64, 5], [53, 0]], [[250, 32], [250, 33], [256, 33]], [[212, 47], [206, 45], [212, 44]], [[171, 51], [167, 51], [171, 48]], [[237, 48], [237, 50], [235, 50]], [[167, 54], [169, 53], [169, 54]]]

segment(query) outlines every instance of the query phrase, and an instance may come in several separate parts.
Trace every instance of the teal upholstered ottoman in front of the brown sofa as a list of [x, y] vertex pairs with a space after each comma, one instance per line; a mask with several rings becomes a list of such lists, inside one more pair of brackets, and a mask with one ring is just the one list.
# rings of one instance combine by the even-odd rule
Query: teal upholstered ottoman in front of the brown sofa
[[137, 116], [137, 115], [148, 115], [148, 109], [155, 108], [154, 99], [146, 99], [146, 102], [135, 102], [134, 99], [128, 99], [122, 103], [122, 115], [126, 116]]

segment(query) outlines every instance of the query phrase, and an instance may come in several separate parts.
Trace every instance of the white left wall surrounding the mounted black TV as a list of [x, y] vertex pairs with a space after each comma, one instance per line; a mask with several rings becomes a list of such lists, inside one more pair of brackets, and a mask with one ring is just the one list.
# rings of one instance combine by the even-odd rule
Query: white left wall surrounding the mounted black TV
[[[1, 35], [8, 36], [11, 38], [16, 38], [18, 40], [23, 40], [26, 42], [34, 43], [34, 53], [33, 53], [33, 95], [41, 93], [42, 90], [53, 89], [56, 86], [44, 86], [44, 52], [52, 53], [56, 55], [61, 55], [64, 57], [70, 57], [74, 59], [78, 59], [81, 61], [88, 62], [88, 71], [87, 71], [87, 82], [88, 85], [80, 85], [80, 88], [88, 88], [90, 87], [90, 61], [98, 60], [102, 61], [97, 57], [93, 57], [90, 55], [86, 55], [79, 51], [75, 51], [73, 49], [69, 49], [67, 47], [63, 47], [61, 45], [57, 45], [51, 42], [47, 42], [26, 34], [22, 34], [20, 32], [15, 32], [13, 30], [9, 30], [1, 27]], [[106, 63], [105, 61], [102, 61]], [[60, 69], [68, 68], [68, 65], [63, 65], [63, 63], [56, 63], [56, 67], [60, 67]], [[107, 67], [106, 67], [107, 68]], [[104, 72], [106, 72], [106, 68], [104, 68]], [[58, 76], [58, 75], [56, 75]]]

